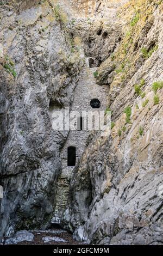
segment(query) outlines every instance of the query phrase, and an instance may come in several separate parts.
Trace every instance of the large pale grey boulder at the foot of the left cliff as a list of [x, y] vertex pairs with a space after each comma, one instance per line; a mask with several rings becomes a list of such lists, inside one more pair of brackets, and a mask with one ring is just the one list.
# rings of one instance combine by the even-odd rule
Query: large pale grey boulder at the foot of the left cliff
[[32, 242], [34, 235], [27, 230], [17, 231], [14, 237], [5, 240], [5, 245], [16, 245], [18, 242], [28, 241]]

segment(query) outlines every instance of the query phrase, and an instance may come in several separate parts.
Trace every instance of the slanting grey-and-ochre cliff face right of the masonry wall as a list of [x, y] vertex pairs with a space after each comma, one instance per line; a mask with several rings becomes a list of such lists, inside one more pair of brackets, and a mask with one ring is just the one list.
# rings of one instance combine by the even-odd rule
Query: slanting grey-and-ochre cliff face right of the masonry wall
[[91, 136], [63, 222], [94, 244], [162, 244], [162, 2], [131, 1], [107, 22], [120, 31], [97, 69], [97, 83], [110, 88], [111, 136]]

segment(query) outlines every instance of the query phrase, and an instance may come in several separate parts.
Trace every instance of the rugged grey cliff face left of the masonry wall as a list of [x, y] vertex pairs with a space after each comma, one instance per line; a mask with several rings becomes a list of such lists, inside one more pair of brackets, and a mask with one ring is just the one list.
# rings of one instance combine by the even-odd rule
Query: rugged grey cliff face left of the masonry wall
[[1, 5], [0, 229], [5, 236], [50, 223], [67, 137], [52, 129], [52, 111], [70, 105], [83, 66], [79, 52], [71, 52], [64, 16], [57, 18], [47, 2], [24, 2]]

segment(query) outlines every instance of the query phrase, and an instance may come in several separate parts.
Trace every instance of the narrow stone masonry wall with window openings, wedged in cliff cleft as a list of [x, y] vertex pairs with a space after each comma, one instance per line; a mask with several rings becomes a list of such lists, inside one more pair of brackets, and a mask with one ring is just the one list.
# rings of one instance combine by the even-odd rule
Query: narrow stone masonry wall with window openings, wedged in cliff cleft
[[[77, 87], [74, 92], [74, 99], [71, 105], [71, 111], [78, 111], [82, 116], [82, 111], [104, 111], [107, 103], [108, 87], [98, 86], [95, 82], [95, 77], [93, 76], [95, 69], [89, 68], [89, 59], [85, 58], [85, 67]], [[92, 99], [98, 99], [101, 102], [101, 107], [98, 109], [93, 109], [90, 106], [90, 101]], [[77, 125], [77, 124], [76, 124]], [[71, 181], [71, 175], [74, 167], [67, 166], [67, 149], [68, 147], [76, 148], [76, 164], [82, 157], [82, 154], [86, 148], [86, 141], [90, 134], [90, 131], [70, 131], [64, 147], [61, 150], [60, 157], [62, 162], [62, 172], [58, 179], [57, 184], [57, 205], [54, 212], [54, 217], [52, 219], [53, 223], [60, 223], [60, 217], [65, 209], [69, 185]]]

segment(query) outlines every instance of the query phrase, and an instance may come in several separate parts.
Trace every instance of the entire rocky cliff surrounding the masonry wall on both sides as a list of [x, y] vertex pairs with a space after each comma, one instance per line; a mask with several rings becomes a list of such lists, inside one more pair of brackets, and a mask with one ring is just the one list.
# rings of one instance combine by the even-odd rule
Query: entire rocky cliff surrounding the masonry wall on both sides
[[62, 225], [94, 244], [162, 244], [162, 1], [3, 2], [0, 239], [51, 222], [68, 136], [52, 113], [72, 104], [86, 57], [112, 130], [89, 137]]

